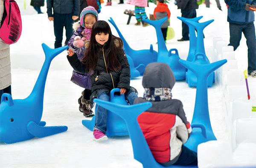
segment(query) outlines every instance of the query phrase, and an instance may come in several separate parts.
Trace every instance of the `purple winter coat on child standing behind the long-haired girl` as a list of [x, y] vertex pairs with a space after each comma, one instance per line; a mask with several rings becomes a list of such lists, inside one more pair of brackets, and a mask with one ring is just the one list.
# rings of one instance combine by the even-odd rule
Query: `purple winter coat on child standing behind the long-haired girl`
[[[75, 41], [74, 38], [76, 36], [80, 36], [81, 38], [83, 37], [83, 35], [81, 34], [83, 30], [84, 28], [82, 26], [77, 28], [76, 31], [71, 36], [70, 40], [67, 42], [67, 45], [75, 50], [80, 61], [84, 57], [84, 47], [77, 48], [76, 46], [73, 46], [73, 42]], [[80, 87], [83, 87], [84, 89], [91, 88], [90, 75], [87, 73], [82, 74], [73, 70], [73, 75], [70, 80], [75, 84], [79, 85]]]

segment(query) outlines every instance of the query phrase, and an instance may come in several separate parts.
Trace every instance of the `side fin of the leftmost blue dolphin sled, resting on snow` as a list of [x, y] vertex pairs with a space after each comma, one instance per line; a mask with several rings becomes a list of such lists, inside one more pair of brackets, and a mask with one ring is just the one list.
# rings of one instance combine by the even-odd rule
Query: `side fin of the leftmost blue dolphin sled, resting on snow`
[[52, 126], [52, 127], [42, 127], [37, 125], [35, 122], [29, 122], [27, 125], [27, 130], [35, 137], [45, 137], [54, 135], [56, 133], [61, 133], [67, 130], [67, 126]]

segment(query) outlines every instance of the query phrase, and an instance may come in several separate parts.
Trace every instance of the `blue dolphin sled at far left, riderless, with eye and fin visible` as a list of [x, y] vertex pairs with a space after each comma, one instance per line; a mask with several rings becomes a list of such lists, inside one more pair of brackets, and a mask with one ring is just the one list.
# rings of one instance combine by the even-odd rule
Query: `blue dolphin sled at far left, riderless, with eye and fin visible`
[[34, 137], [45, 137], [67, 130], [67, 126], [45, 127], [43, 114], [44, 88], [49, 66], [55, 56], [68, 48], [50, 49], [42, 44], [45, 61], [32, 93], [25, 99], [12, 99], [4, 93], [0, 104], [0, 142], [7, 144], [25, 141]]

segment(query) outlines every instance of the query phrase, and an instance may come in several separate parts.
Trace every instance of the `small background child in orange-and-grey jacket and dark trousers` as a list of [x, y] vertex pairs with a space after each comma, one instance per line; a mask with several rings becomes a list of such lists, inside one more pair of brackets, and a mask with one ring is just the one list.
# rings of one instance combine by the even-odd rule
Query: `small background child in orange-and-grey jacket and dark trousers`
[[166, 20], [161, 26], [164, 41], [166, 41], [167, 29], [170, 25], [170, 16], [171, 12], [168, 8], [168, 5], [164, 3], [164, 0], [157, 0], [157, 7], [154, 9], [154, 17], [156, 20], [168, 17], [168, 20]]

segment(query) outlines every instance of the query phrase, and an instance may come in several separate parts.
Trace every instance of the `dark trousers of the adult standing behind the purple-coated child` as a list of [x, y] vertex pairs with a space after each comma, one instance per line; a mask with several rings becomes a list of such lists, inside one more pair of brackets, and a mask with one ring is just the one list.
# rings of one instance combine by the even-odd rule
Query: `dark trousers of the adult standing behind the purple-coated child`
[[67, 45], [67, 41], [70, 40], [71, 35], [73, 34], [72, 24], [74, 20], [72, 19], [73, 13], [70, 14], [53, 14], [53, 27], [54, 27], [54, 35], [55, 35], [55, 43], [54, 48], [58, 48], [62, 46], [63, 39], [63, 29], [65, 27], [66, 30], [66, 41], [65, 45]]

